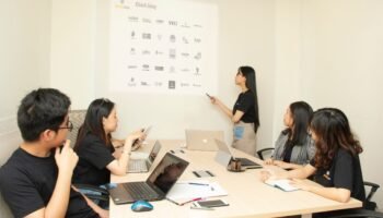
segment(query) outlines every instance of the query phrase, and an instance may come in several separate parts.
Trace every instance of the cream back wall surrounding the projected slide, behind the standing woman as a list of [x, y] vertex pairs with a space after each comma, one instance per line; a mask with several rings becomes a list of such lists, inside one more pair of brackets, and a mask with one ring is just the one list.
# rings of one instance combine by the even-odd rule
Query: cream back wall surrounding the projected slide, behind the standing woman
[[[232, 107], [240, 92], [234, 84], [236, 70], [243, 64], [253, 65], [257, 71], [262, 117], [258, 144], [270, 145], [272, 123], [269, 120], [274, 111], [274, 101], [270, 99], [275, 83], [275, 1], [199, 2], [213, 3], [219, 8], [218, 96]], [[211, 106], [205, 95], [184, 97], [127, 94], [113, 93], [107, 88], [108, 3], [105, 0], [53, 0], [51, 83], [72, 97], [72, 108], [85, 108], [95, 97], [107, 97], [118, 105], [119, 136], [152, 124], [149, 135], [152, 138], [184, 138], [184, 130], [187, 128], [217, 129], [224, 130], [227, 141], [231, 142], [231, 123]], [[83, 26], [81, 29], [77, 20]], [[92, 70], [94, 74], [90, 73]], [[90, 74], [92, 75], [88, 78]], [[93, 76], [95, 83], [92, 82]], [[74, 77], [80, 77], [81, 83], [73, 83]], [[66, 86], [70, 82], [71, 86]], [[92, 88], [94, 84], [95, 88]]]

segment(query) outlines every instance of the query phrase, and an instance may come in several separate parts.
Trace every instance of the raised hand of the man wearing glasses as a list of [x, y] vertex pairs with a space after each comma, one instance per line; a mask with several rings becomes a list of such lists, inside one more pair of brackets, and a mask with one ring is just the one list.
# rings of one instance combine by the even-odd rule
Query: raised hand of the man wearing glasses
[[56, 147], [55, 160], [58, 169], [65, 172], [73, 172], [79, 161], [79, 156], [70, 147], [70, 140], [67, 140], [62, 148]]

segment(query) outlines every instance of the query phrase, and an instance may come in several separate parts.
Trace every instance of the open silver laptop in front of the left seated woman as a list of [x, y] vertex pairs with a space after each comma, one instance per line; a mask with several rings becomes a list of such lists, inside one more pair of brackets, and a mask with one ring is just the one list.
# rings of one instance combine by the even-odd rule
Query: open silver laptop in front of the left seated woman
[[148, 172], [153, 165], [155, 157], [159, 155], [161, 143], [155, 141], [154, 146], [147, 158], [129, 159], [127, 172]]

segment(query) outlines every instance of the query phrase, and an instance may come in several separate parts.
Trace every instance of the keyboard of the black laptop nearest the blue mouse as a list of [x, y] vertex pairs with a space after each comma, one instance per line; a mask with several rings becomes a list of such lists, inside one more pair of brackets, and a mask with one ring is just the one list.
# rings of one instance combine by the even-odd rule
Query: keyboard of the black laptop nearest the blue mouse
[[135, 199], [153, 199], [159, 196], [159, 194], [144, 182], [125, 183], [124, 187]]

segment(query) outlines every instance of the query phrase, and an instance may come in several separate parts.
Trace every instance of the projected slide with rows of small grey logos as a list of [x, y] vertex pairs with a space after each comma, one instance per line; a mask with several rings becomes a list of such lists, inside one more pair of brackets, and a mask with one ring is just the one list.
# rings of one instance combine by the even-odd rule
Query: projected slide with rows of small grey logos
[[109, 89], [217, 93], [218, 9], [190, 0], [112, 0]]

